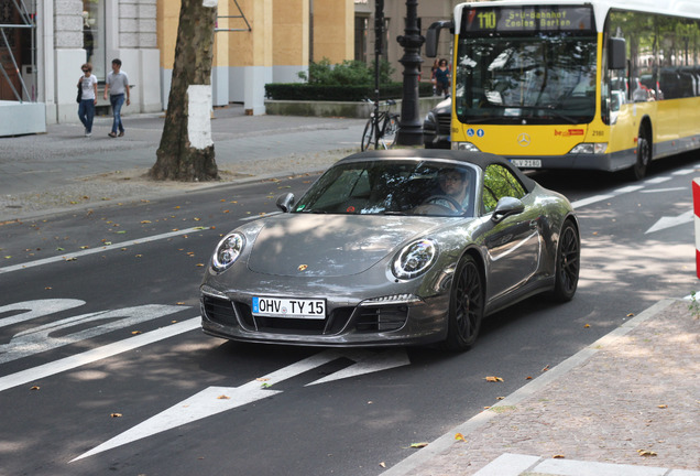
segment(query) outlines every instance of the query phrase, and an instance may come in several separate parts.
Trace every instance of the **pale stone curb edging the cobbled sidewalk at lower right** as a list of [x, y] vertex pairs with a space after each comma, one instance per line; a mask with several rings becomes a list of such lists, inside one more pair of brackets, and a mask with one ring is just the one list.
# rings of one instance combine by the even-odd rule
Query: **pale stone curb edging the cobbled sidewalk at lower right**
[[577, 354], [561, 361], [556, 367], [553, 367], [549, 371], [540, 375], [535, 378], [533, 381], [524, 385], [519, 389], [515, 390], [513, 393], [507, 396], [505, 399], [501, 400], [499, 403], [491, 407], [491, 409], [483, 411], [471, 419], [467, 420], [464, 423], [455, 426], [449, 432], [445, 433], [442, 436], [438, 437], [434, 442], [431, 442], [428, 446], [422, 448], [419, 452], [406, 457], [401, 461], [390, 469], [381, 473], [382, 476], [403, 476], [408, 474], [411, 470], [420, 468], [426, 465], [433, 458], [439, 457], [441, 453], [447, 451], [455, 444], [455, 434], [461, 433], [464, 437], [467, 435], [474, 433], [477, 430], [481, 429], [492, 419], [499, 415], [499, 409], [504, 407], [513, 407], [523, 400], [532, 397], [536, 392], [549, 386], [555, 380], [564, 377], [569, 371], [576, 369], [577, 367], [584, 364], [599, 350], [611, 345], [614, 340], [623, 337], [628, 334], [631, 331], [636, 328], [639, 324], [645, 321], [654, 317], [659, 314], [664, 310], [666, 310], [671, 304], [682, 301], [681, 299], [665, 299], [663, 301], [657, 302], [653, 306], [643, 311], [637, 316], [631, 318], [626, 323], [622, 324], [620, 327], [611, 331], [603, 337], [599, 338], [594, 343], [588, 345], [583, 349], [579, 350]]

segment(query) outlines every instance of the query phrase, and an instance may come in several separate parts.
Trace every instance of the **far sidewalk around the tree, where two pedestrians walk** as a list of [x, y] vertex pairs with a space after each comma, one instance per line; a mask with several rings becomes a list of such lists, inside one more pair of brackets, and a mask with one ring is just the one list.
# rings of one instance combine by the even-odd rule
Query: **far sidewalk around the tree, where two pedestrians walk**
[[125, 136], [107, 136], [111, 117], [48, 126], [45, 134], [0, 138], [0, 223], [109, 201], [146, 199], [222, 183], [322, 171], [359, 151], [364, 119], [245, 116], [217, 108], [211, 120], [221, 182], [153, 182], [164, 113], [123, 116]]

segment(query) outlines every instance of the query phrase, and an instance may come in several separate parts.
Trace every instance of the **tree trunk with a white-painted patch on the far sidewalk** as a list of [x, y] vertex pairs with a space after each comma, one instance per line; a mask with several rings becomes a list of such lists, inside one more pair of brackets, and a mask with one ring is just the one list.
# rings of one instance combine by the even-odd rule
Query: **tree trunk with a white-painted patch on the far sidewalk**
[[211, 63], [216, 0], [182, 0], [173, 80], [154, 180], [217, 180], [211, 141]]

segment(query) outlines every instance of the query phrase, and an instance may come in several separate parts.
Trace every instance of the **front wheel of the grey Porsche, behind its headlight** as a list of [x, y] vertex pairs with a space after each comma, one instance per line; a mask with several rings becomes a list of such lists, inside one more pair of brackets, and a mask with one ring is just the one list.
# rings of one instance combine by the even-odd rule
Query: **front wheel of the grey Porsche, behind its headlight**
[[477, 261], [466, 256], [457, 266], [447, 323], [445, 347], [449, 350], [469, 349], [479, 335], [484, 309], [484, 285]]

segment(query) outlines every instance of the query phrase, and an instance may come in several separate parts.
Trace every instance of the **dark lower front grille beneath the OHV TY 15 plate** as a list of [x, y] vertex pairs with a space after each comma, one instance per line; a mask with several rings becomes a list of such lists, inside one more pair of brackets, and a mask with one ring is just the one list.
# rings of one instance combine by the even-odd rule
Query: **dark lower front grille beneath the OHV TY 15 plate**
[[332, 335], [348, 326], [354, 317], [358, 333], [396, 331], [408, 318], [406, 305], [337, 307], [325, 320], [254, 316], [241, 302], [203, 296], [203, 309], [209, 321], [225, 326], [241, 325], [250, 332], [297, 335]]

